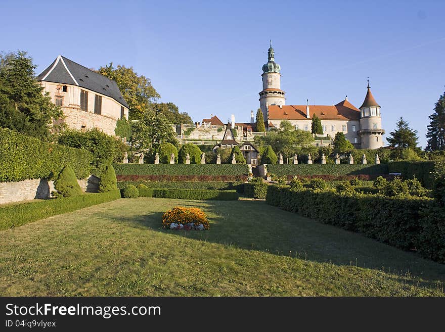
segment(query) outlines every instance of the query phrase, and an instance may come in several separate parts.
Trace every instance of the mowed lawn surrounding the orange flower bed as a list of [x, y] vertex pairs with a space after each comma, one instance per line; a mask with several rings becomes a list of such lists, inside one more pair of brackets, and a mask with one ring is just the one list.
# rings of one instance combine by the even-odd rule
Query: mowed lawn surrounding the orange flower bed
[[[161, 228], [174, 206], [208, 231]], [[443, 296], [445, 265], [259, 201], [120, 199], [0, 231], [2, 296]]]

